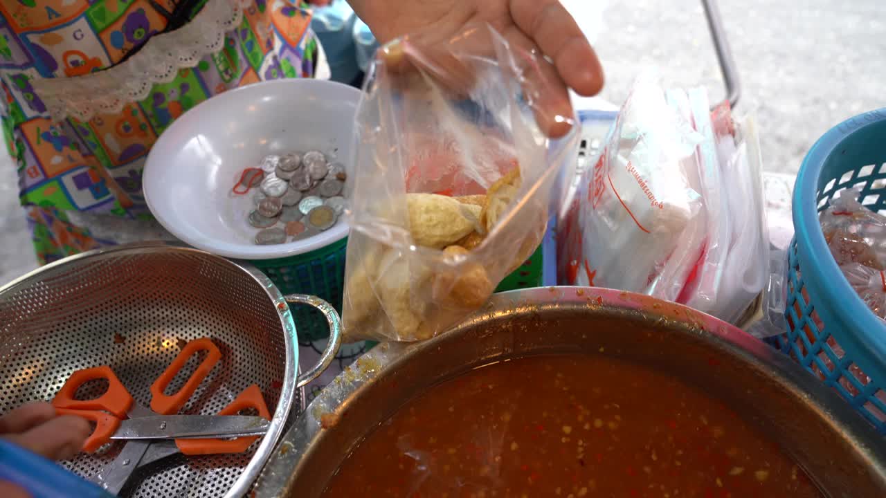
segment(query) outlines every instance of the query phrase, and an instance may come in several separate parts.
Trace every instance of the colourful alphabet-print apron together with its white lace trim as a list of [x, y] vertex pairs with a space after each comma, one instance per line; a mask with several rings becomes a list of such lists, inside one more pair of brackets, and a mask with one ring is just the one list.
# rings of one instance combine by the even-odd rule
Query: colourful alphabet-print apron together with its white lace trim
[[[0, 10], [3, 130], [41, 263], [152, 237], [138, 228], [154, 226], [144, 161], [191, 107], [322, 71], [310, 12], [291, 0], [0, 0]], [[101, 230], [112, 225], [125, 229]]]

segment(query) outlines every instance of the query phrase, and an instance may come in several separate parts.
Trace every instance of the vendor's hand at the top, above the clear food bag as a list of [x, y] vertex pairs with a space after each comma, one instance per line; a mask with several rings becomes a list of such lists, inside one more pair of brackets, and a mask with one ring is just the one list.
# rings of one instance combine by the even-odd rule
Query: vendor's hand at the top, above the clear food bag
[[[553, 61], [548, 72], [556, 95], [552, 115], [571, 115], [566, 87], [579, 95], [602, 89], [600, 61], [575, 19], [558, 0], [348, 0], [379, 43], [402, 35], [424, 47], [440, 47], [478, 22], [492, 25], [509, 43], [538, 49]], [[565, 83], [565, 85], [563, 85]], [[541, 123], [545, 124], [545, 123]]]

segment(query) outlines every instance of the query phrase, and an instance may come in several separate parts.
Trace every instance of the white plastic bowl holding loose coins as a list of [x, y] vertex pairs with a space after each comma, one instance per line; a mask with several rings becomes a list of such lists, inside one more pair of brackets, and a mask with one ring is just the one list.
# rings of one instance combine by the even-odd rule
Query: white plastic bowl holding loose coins
[[246, 221], [253, 191], [237, 196], [245, 167], [269, 153], [319, 150], [353, 173], [354, 115], [361, 92], [311, 79], [232, 89], [197, 105], [159, 137], [144, 167], [144, 198], [158, 222], [209, 253], [268, 260], [307, 253], [347, 236], [344, 219], [315, 237], [255, 245]]

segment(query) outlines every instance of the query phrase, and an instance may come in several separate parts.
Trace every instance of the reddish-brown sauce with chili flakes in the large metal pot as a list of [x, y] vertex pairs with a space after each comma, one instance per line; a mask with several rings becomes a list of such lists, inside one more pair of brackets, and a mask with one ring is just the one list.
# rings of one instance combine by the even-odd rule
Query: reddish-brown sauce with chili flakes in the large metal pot
[[680, 380], [557, 355], [432, 387], [369, 434], [324, 496], [821, 494], [777, 447]]

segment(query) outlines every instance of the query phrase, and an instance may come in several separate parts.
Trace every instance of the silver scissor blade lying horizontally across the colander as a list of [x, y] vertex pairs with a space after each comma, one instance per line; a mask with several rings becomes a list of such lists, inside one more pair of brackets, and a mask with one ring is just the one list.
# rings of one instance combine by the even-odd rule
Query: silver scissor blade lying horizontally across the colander
[[270, 422], [260, 416], [164, 415], [129, 418], [120, 422], [112, 440], [170, 440], [260, 436]]

